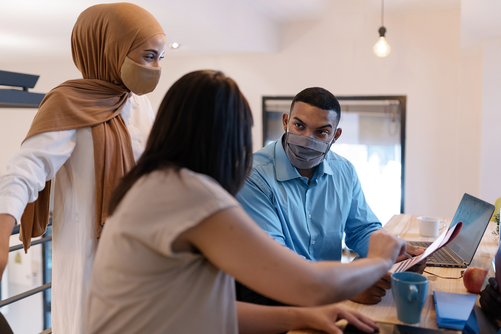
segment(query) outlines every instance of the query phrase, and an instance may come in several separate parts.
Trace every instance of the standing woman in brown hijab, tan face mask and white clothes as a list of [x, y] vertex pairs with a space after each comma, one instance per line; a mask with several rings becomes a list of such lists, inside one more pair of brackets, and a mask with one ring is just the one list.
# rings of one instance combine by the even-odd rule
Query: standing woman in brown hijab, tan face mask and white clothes
[[85, 296], [109, 198], [144, 150], [154, 114], [143, 94], [158, 83], [165, 41], [160, 24], [136, 5], [103, 4], [82, 12], [71, 46], [83, 79], [66, 81], [46, 95], [0, 177], [2, 272], [15, 223], [21, 224], [25, 251], [32, 237], [45, 233], [55, 178], [55, 334], [83, 331]]

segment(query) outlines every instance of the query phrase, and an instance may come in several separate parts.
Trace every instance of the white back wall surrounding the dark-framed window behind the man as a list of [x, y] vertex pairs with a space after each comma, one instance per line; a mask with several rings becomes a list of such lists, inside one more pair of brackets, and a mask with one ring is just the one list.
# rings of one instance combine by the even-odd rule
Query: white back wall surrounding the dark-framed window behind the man
[[[454, 6], [439, 10], [411, 11], [402, 5], [387, 13], [386, 37], [392, 52], [386, 58], [372, 53], [380, 18], [366, 1], [337, 4], [318, 21], [284, 24], [281, 48], [274, 54], [169, 51], [160, 83], [149, 98], [156, 108], [184, 73], [222, 70], [249, 100], [255, 116], [255, 149], [259, 149], [263, 95], [295, 95], [311, 86], [322, 86], [335, 95], [407, 95], [405, 211], [451, 217], [464, 192], [479, 193], [481, 92], [477, 85], [482, 61], [461, 50], [459, 1], [451, 3]], [[0, 68], [41, 74], [36, 91], [79, 77], [66, 58], [49, 65], [42, 60], [3, 63]], [[465, 92], [473, 92], [473, 98], [465, 100]], [[4, 120], [0, 118], [0, 133], [13, 127]], [[26, 133], [26, 124], [19, 124], [19, 129]], [[2, 147], [0, 162], [6, 152]]]

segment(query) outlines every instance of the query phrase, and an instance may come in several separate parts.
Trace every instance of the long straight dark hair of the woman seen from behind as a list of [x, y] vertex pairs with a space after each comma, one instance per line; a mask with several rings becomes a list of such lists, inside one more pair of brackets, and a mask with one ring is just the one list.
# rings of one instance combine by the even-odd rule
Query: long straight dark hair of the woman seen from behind
[[143, 175], [174, 166], [215, 179], [231, 195], [252, 165], [252, 114], [236, 83], [221, 72], [195, 71], [167, 91], [146, 149], [111, 196], [111, 216]]

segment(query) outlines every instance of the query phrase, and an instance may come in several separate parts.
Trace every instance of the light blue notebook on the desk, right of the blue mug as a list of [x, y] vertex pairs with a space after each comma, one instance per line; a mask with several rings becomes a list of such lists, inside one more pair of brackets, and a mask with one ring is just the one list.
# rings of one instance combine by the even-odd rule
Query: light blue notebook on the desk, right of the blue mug
[[476, 294], [433, 291], [438, 327], [463, 330], [476, 297]]

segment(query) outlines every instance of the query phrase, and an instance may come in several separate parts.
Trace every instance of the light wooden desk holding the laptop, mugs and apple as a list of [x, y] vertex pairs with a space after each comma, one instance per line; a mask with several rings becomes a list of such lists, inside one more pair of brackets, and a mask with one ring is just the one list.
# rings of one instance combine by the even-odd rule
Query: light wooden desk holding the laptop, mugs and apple
[[[447, 226], [449, 226], [451, 218], [441, 218], [447, 222]], [[418, 224], [417, 224], [417, 216], [413, 215], [395, 215], [390, 221], [384, 226], [384, 228], [393, 233], [400, 235], [405, 240], [411, 241], [434, 241], [435, 238], [422, 237], [419, 235]], [[493, 256], [497, 251], [498, 240], [497, 237], [493, 236], [491, 232], [495, 230], [496, 224], [494, 222], [490, 222], [485, 230], [482, 241], [480, 245], [478, 245], [478, 249], [476, 250], [475, 256], [470, 264], [471, 267], [482, 267], [489, 268], [489, 273], [487, 277], [494, 276], [494, 272], [492, 270], [491, 261]], [[443, 277], [459, 277], [461, 276], [461, 268], [446, 268], [446, 267], [426, 267], [426, 271], [432, 272], [434, 274], [443, 276]], [[433, 301], [433, 291], [447, 291], [447, 292], [455, 292], [455, 293], [467, 293], [468, 292], [463, 285], [463, 279], [446, 279], [439, 278], [437, 276], [433, 276], [427, 273], [424, 275], [428, 278], [428, 296], [426, 297], [426, 301], [423, 306], [423, 310], [421, 311], [421, 322], [413, 324], [413, 326], [425, 327], [425, 328], [433, 328], [437, 329], [436, 315], [435, 315], [435, 303]], [[391, 290], [386, 291], [386, 296], [383, 297], [383, 300], [376, 305], [364, 305], [355, 303], [350, 300], [345, 300], [339, 303], [345, 308], [357, 310], [368, 317], [382, 322], [391, 322], [391, 323], [399, 323], [403, 324], [403, 322], [397, 319], [397, 311], [395, 308], [395, 302], [393, 301], [393, 296], [391, 294]], [[477, 298], [477, 305], [478, 298]], [[440, 328], [442, 329], [442, 328]], [[460, 331], [458, 331], [460, 332]], [[289, 334], [307, 334], [307, 333], [320, 333], [316, 330], [295, 330], [289, 331]]]

